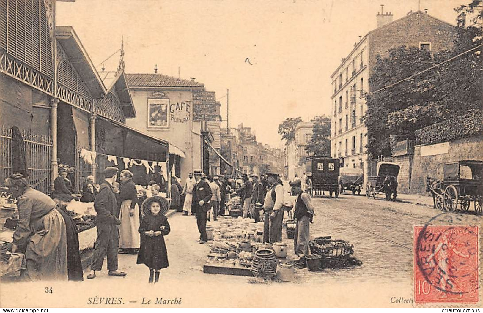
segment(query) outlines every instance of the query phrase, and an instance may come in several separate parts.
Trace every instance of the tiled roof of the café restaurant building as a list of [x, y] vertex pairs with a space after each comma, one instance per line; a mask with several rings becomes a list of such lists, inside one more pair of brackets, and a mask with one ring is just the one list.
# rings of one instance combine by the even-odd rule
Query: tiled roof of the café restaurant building
[[204, 87], [194, 80], [188, 81], [163, 74], [126, 74], [129, 87]]

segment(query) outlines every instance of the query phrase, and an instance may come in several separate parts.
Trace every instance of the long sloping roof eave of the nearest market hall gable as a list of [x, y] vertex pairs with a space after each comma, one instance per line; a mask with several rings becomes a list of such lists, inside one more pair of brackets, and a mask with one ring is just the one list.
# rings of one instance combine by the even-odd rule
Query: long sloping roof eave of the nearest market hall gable
[[92, 96], [102, 98], [106, 95], [106, 87], [74, 29], [71, 26], [57, 26], [56, 36], [69, 61], [89, 88]]

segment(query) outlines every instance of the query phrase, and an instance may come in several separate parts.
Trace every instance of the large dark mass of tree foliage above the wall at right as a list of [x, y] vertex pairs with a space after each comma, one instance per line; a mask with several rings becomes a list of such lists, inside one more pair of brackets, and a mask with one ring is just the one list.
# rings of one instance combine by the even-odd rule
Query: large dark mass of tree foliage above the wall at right
[[397, 141], [414, 139], [420, 128], [480, 109], [481, 48], [440, 64], [481, 43], [474, 27], [456, 28], [456, 33], [451, 50], [432, 55], [415, 47], [398, 47], [390, 50], [388, 57], [377, 57], [364, 117], [369, 137], [366, 147], [373, 156], [392, 154], [390, 136]]

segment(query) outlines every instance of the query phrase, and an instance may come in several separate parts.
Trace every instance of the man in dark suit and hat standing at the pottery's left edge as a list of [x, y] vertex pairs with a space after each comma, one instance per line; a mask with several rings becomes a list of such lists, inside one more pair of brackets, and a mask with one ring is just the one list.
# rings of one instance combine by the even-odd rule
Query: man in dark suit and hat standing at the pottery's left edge
[[195, 170], [196, 184], [193, 188], [193, 204], [192, 210], [196, 212], [196, 222], [199, 231], [199, 243], [204, 244], [208, 241], [206, 235], [206, 212], [211, 209], [211, 198], [213, 191], [206, 181], [206, 175], [201, 170]]

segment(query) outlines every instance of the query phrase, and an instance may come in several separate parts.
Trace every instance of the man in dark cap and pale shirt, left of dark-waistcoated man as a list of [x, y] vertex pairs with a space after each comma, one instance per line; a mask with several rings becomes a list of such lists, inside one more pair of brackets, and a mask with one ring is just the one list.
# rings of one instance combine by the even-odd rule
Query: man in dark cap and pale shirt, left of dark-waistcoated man
[[278, 174], [267, 173], [270, 189], [265, 196], [263, 208], [265, 221], [263, 241], [271, 244], [282, 241], [282, 222], [284, 220], [284, 187], [279, 183]]

